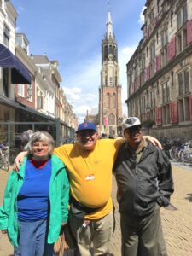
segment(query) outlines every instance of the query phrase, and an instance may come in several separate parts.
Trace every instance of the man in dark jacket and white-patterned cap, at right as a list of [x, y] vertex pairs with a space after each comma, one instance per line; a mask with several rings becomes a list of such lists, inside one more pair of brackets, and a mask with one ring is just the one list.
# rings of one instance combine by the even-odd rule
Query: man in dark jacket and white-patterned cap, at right
[[173, 193], [166, 154], [143, 138], [137, 117], [122, 124], [126, 141], [113, 166], [118, 193], [122, 256], [166, 256], [160, 207]]

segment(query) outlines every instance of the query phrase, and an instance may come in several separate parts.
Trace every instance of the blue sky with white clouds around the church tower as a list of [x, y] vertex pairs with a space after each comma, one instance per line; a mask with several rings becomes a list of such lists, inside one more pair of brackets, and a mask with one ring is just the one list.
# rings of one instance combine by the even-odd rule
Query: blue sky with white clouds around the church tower
[[[26, 34], [30, 54], [60, 63], [61, 86], [73, 111], [83, 121], [98, 107], [101, 44], [106, 32], [107, 0], [12, 0], [18, 13], [17, 32]], [[113, 32], [119, 48], [122, 102], [127, 114], [126, 63], [142, 38], [146, 0], [111, 0]]]

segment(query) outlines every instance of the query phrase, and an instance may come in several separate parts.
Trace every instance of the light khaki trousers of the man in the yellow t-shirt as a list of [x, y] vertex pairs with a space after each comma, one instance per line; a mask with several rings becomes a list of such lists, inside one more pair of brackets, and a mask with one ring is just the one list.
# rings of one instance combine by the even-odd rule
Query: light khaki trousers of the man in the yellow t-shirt
[[90, 220], [90, 224], [83, 227], [84, 220], [69, 214], [69, 224], [73, 236], [77, 240], [81, 256], [108, 255], [110, 241], [113, 235], [113, 211], [104, 218]]

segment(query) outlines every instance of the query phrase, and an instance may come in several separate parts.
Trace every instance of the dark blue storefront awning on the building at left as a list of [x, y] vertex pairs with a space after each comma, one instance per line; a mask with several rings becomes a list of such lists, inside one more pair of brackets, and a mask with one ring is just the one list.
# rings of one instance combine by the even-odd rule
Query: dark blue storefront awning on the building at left
[[31, 84], [32, 77], [26, 67], [3, 44], [0, 44], [0, 67], [11, 68], [12, 84]]

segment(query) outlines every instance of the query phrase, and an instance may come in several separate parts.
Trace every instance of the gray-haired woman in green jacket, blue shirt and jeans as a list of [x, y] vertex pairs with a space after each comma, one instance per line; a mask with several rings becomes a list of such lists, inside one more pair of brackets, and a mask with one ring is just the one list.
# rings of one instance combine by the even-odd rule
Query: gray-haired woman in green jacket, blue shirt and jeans
[[15, 255], [53, 255], [61, 225], [67, 223], [69, 183], [54, 140], [35, 132], [19, 172], [11, 172], [0, 208], [0, 230], [8, 233]]

